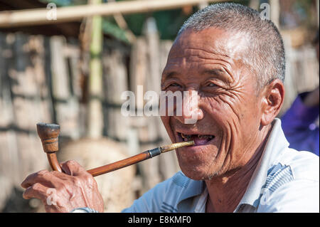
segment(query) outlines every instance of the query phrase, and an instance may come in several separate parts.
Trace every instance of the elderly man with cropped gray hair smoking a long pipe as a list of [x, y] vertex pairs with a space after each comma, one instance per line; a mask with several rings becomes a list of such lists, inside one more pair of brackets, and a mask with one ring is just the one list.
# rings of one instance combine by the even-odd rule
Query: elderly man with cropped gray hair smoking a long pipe
[[[289, 149], [275, 119], [284, 99], [284, 47], [271, 21], [239, 4], [214, 4], [179, 31], [161, 79], [164, 91], [198, 93], [196, 122], [161, 117], [176, 150], [176, 175], [124, 212], [319, 212], [319, 157]], [[188, 103], [188, 100], [185, 100]], [[46, 211], [103, 211], [95, 180], [75, 162], [21, 184]], [[48, 205], [48, 188], [57, 191]], [[75, 209], [75, 210], [74, 210]]]

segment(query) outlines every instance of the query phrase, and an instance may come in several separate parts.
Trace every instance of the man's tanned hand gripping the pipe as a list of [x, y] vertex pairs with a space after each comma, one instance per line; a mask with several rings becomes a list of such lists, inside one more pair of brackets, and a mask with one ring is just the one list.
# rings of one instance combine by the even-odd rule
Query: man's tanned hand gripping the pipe
[[40, 199], [46, 212], [70, 212], [74, 208], [89, 207], [103, 212], [103, 201], [97, 182], [78, 162], [62, 164], [64, 173], [41, 170], [30, 174], [21, 183], [26, 189], [24, 199]]

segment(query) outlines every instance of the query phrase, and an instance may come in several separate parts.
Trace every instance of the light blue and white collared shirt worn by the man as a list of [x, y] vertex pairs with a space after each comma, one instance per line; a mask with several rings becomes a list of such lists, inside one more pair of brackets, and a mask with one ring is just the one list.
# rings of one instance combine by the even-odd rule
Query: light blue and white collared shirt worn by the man
[[[204, 181], [179, 171], [122, 212], [205, 212], [207, 195]], [[319, 212], [319, 157], [290, 149], [279, 119], [234, 212]]]

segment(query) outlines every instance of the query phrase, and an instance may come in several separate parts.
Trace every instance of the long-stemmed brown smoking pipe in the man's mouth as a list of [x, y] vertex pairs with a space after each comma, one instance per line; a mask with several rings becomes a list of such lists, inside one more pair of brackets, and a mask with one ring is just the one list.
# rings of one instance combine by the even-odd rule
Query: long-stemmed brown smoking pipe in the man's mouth
[[[60, 133], [60, 126], [54, 124], [38, 123], [37, 132], [38, 136], [41, 139], [43, 150], [47, 153], [50, 167], [55, 171], [63, 172], [55, 154], [56, 152], [58, 152], [58, 136]], [[89, 169], [87, 170], [87, 172], [89, 172], [92, 176], [99, 176], [101, 174], [109, 173], [110, 171], [122, 169], [132, 164], [142, 162], [146, 159], [151, 159], [152, 157], [155, 157], [161, 153], [169, 152], [179, 147], [191, 146], [193, 144], [193, 141], [188, 141], [156, 147], [154, 149], [147, 150], [146, 152], [142, 152], [132, 157], [128, 157], [127, 159], [122, 159], [118, 162], [113, 162], [111, 164], [107, 164], [102, 167], [97, 167], [95, 169]]]

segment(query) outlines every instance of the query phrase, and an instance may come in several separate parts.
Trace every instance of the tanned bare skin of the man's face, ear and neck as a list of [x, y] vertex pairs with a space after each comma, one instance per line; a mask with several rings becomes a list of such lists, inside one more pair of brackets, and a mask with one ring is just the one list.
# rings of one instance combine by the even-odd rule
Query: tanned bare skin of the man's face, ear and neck
[[257, 77], [242, 60], [247, 45], [242, 33], [186, 30], [176, 38], [161, 79], [161, 90], [198, 93], [195, 124], [185, 124], [185, 112], [161, 117], [172, 142], [183, 141], [179, 133], [214, 136], [176, 151], [183, 173], [206, 181], [207, 212], [234, 211], [283, 102], [281, 80], [257, 91]]

